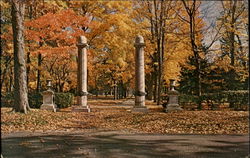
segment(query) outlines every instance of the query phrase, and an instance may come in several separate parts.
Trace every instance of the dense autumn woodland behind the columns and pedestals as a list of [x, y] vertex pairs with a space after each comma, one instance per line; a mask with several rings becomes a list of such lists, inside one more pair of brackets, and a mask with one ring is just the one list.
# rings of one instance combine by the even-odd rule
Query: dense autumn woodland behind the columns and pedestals
[[13, 10], [18, 8], [14, 3], [25, 4], [29, 93], [45, 90], [47, 79], [52, 79], [56, 92], [76, 93], [80, 35], [88, 39], [88, 91], [94, 95], [118, 99], [133, 94], [137, 34], [146, 42], [147, 99], [157, 104], [169, 79], [178, 81], [181, 94], [197, 97], [249, 89], [246, 0], [13, 0], [0, 2], [2, 96], [15, 89], [13, 32], [18, 28], [13, 24], [18, 19]]

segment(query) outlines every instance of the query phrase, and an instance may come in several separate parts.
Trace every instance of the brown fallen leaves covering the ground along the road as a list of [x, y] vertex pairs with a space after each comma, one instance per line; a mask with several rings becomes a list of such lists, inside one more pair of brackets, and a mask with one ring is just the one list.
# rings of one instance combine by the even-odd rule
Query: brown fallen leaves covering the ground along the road
[[[107, 102], [107, 101], [106, 101]], [[98, 101], [100, 103], [100, 101]], [[3, 133], [17, 131], [76, 131], [87, 129], [126, 130], [137, 133], [165, 134], [246, 134], [249, 114], [245, 111], [181, 111], [164, 113], [131, 113], [128, 107], [114, 104], [94, 106], [91, 113], [49, 112], [32, 109], [26, 115], [9, 113], [1, 108]], [[105, 103], [104, 103], [105, 104]], [[110, 108], [109, 108], [110, 106]], [[112, 106], [112, 107], [111, 107]], [[160, 109], [161, 107], [157, 107]]]

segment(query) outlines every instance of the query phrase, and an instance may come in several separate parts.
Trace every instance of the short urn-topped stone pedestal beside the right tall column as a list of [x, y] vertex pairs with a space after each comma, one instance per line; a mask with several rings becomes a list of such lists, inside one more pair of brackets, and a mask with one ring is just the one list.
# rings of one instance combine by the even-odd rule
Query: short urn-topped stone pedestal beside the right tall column
[[183, 110], [178, 103], [179, 92], [174, 89], [175, 80], [170, 80], [170, 91], [168, 92], [169, 101], [165, 108], [165, 112], [180, 111]]

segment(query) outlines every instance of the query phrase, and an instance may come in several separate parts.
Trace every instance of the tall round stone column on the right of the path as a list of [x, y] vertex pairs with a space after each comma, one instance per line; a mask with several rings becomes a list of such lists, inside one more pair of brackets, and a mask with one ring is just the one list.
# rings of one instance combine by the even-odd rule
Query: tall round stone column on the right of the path
[[147, 112], [145, 106], [145, 74], [144, 74], [144, 39], [141, 35], [135, 38], [135, 105], [133, 112]]

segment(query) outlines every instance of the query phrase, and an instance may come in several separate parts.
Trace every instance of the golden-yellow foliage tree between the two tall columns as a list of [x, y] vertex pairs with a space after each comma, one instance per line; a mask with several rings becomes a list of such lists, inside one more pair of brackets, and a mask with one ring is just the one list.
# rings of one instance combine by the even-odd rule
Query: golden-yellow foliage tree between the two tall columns
[[132, 3], [69, 1], [68, 5], [79, 15], [90, 17], [90, 25], [82, 27], [92, 54], [92, 60], [88, 60], [88, 69], [92, 70], [88, 74], [89, 90], [107, 91], [116, 84], [119, 89], [131, 87], [135, 30], [130, 18]]

